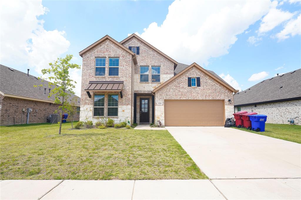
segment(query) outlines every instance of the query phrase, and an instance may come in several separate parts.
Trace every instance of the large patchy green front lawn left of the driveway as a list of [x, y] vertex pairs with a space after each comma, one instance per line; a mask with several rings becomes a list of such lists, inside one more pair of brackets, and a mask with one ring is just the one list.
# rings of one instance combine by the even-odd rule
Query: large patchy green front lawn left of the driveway
[[3, 179], [206, 179], [166, 130], [0, 127]]

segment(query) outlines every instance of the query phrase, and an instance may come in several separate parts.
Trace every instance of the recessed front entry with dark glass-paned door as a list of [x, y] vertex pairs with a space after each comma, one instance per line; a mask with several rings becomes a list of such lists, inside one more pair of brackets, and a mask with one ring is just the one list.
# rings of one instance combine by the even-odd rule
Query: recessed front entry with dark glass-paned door
[[154, 97], [151, 93], [134, 93], [134, 123], [154, 123]]

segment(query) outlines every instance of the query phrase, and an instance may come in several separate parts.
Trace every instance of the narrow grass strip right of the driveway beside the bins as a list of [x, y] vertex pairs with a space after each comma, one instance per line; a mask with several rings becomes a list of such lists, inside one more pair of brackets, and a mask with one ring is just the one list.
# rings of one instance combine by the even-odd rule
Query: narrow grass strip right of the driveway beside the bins
[[[236, 127], [232, 127], [238, 129]], [[272, 138], [287, 140], [301, 144], [301, 126], [289, 124], [265, 124], [265, 132], [250, 131], [240, 128], [239, 130], [265, 135]]]

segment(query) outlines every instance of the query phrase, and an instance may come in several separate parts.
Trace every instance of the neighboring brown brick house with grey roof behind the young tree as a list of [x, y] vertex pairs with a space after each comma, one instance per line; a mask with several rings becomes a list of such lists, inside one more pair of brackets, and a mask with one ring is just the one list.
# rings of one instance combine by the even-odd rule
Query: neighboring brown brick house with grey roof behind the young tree
[[[46, 117], [58, 109], [53, 98], [48, 98], [49, 89], [34, 87], [34, 85], [47, 84], [28, 73], [0, 65], [0, 125], [26, 124], [27, 108], [29, 123], [47, 122]], [[71, 94], [70, 98], [77, 98], [77, 114], [79, 120], [80, 98]]]

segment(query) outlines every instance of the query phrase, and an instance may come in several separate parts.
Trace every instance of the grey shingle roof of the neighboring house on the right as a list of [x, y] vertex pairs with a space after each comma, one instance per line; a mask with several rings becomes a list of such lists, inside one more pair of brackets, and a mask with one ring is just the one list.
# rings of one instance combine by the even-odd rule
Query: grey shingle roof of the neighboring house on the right
[[234, 106], [301, 99], [301, 69], [257, 83], [234, 95]]

